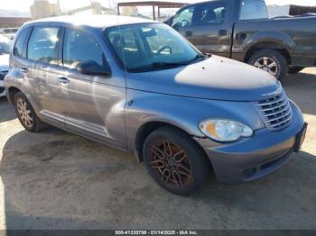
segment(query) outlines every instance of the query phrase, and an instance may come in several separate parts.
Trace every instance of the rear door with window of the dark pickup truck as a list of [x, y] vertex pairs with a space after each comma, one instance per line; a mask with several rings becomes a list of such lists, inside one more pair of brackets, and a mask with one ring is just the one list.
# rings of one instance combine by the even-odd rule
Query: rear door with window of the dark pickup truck
[[228, 57], [230, 47], [230, 12], [227, 1], [200, 4], [195, 17], [191, 42], [202, 52]]

